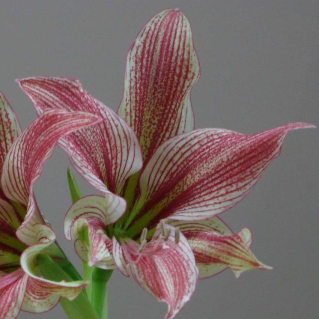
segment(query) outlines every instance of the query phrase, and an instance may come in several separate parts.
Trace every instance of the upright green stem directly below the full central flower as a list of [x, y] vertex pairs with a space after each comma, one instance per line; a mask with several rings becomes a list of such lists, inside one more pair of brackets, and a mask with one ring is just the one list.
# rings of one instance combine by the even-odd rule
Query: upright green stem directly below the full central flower
[[95, 268], [92, 274], [91, 303], [99, 319], [108, 319], [107, 283], [113, 270]]

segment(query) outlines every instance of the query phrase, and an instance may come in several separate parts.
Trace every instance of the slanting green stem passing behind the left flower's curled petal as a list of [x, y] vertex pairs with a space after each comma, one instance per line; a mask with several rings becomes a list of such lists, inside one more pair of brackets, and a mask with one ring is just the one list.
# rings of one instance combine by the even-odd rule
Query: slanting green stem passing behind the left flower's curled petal
[[[68, 282], [73, 279], [60, 268], [48, 255], [38, 255], [37, 262], [44, 278], [60, 282], [62, 280]], [[74, 281], [73, 281], [74, 282]], [[92, 308], [86, 294], [82, 291], [78, 297], [70, 301], [62, 297], [60, 304], [69, 317], [69, 319], [98, 319], [94, 309]]]

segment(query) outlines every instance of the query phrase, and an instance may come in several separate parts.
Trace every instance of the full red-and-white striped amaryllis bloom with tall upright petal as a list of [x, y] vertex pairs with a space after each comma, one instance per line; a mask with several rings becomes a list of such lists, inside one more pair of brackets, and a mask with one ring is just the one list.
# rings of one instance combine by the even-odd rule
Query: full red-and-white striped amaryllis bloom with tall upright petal
[[293, 123], [253, 135], [194, 130], [190, 91], [200, 68], [188, 20], [165, 10], [148, 21], [126, 61], [117, 114], [79, 80], [19, 80], [39, 115], [46, 108], [85, 111], [104, 121], [63, 137], [77, 171], [102, 195], [75, 202], [65, 218], [78, 255], [102, 269], [118, 268], [168, 304], [174, 315], [198, 278], [229, 267], [236, 276], [268, 268], [250, 251], [251, 234], [234, 234], [216, 215], [253, 188], [281, 150]]

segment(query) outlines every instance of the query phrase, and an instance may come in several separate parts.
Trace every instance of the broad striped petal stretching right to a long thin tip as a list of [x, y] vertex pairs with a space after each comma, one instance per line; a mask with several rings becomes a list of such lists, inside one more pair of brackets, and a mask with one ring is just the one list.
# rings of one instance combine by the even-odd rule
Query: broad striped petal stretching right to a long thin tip
[[135, 207], [141, 218], [129, 234], [167, 217], [200, 220], [226, 211], [248, 194], [279, 155], [287, 132], [310, 127], [294, 123], [253, 135], [202, 129], [168, 140], [141, 174], [142, 194]]

